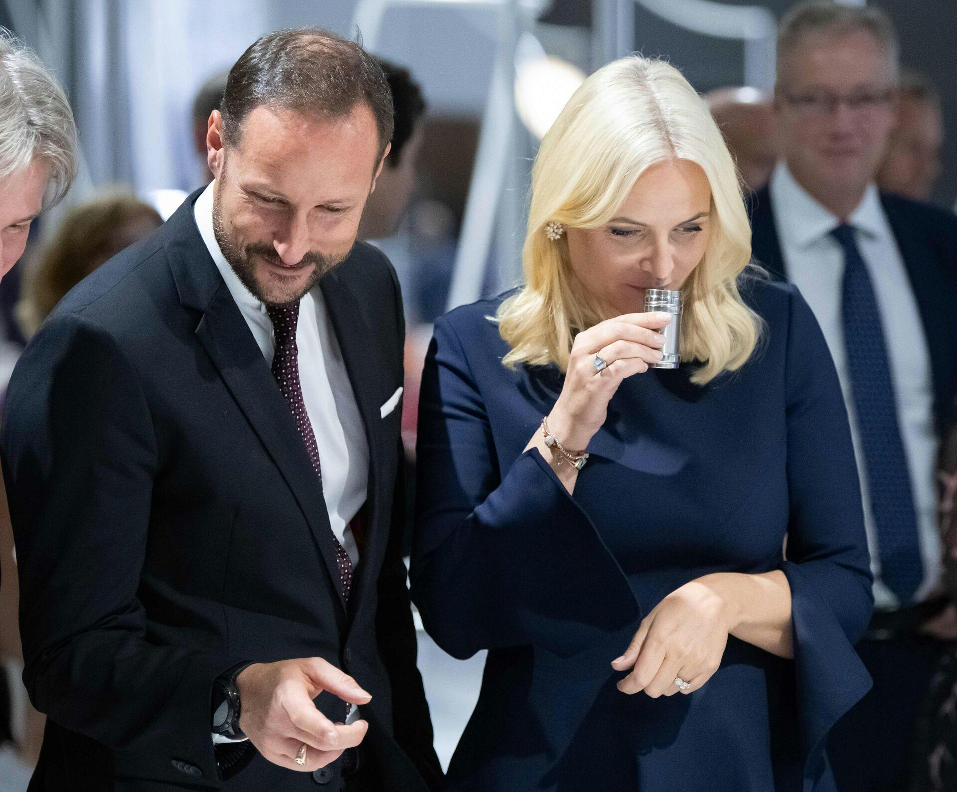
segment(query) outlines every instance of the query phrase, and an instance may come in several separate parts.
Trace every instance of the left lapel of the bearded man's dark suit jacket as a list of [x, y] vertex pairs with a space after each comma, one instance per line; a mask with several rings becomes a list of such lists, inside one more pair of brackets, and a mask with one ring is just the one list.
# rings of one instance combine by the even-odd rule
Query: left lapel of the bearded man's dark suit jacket
[[167, 257], [183, 304], [202, 313], [196, 338], [285, 478], [345, 609], [320, 480], [276, 380], [192, 219], [194, 193], [168, 221]]

